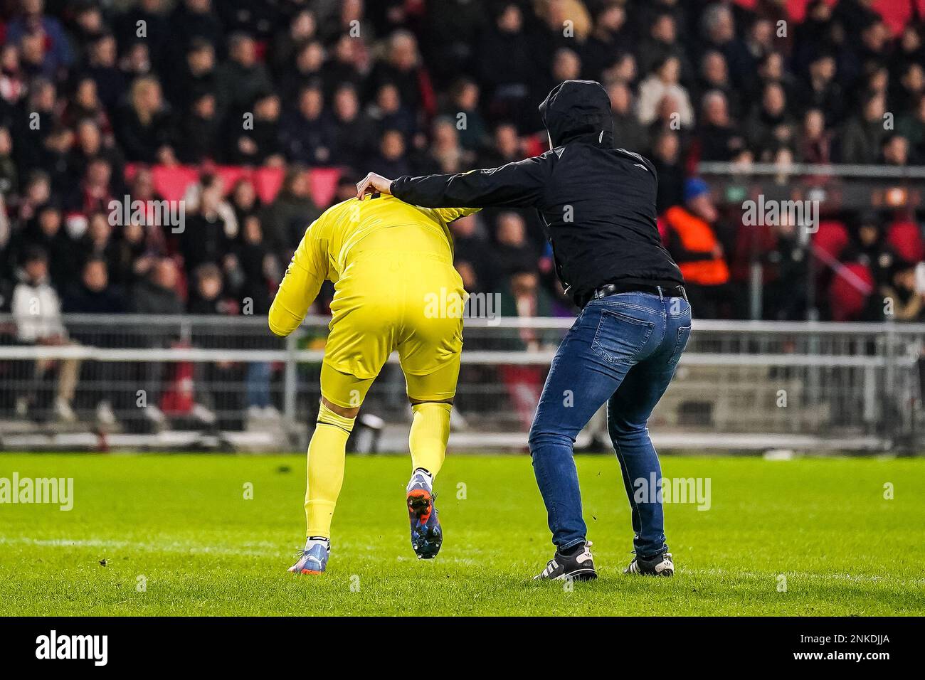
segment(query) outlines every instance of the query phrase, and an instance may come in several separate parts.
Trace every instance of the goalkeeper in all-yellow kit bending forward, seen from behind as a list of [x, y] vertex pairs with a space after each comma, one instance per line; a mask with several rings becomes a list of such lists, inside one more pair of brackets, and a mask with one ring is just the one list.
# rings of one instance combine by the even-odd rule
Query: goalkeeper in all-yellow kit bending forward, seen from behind
[[[290, 572], [325, 571], [347, 438], [393, 350], [399, 352], [413, 408], [413, 473], [407, 488], [412, 547], [421, 559], [440, 550], [433, 480], [450, 436], [465, 296], [453, 268], [447, 223], [474, 212], [421, 208], [374, 194], [328, 208], [305, 230], [270, 307], [270, 329], [286, 336], [298, 328], [325, 279], [335, 292], [321, 366], [321, 406], [308, 447], [308, 538]], [[440, 309], [435, 299], [456, 303]]]

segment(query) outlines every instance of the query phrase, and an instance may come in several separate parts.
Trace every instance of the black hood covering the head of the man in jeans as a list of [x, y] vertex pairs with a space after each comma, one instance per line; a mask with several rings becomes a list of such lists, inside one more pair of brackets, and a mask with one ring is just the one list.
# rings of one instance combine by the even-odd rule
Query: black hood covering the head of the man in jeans
[[562, 81], [539, 105], [539, 115], [554, 147], [581, 138], [613, 145], [611, 98], [597, 80]]

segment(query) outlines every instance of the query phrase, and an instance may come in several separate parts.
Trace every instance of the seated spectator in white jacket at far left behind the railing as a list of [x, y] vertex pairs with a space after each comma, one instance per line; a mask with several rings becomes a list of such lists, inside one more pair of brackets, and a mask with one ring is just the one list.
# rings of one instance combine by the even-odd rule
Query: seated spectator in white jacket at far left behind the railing
[[[19, 283], [13, 289], [10, 312], [16, 322], [19, 342], [34, 345], [68, 346], [68, 330], [61, 319], [61, 302], [55, 288], [48, 279], [48, 256], [41, 248], [31, 247], [23, 257], [19, 272]], [[38, 411], [46, 408], [43, 383], [57, 368], [57, 389], [54, 399], [54, 414], [59, 420], [73, 422], [77, 419], [71, 403], [80, 372], [78, 359], [39, 359], [36, 362], [38, 384], [23, 399], [25, 408]], [[24, 410], [19, 406], [18, 411]]]

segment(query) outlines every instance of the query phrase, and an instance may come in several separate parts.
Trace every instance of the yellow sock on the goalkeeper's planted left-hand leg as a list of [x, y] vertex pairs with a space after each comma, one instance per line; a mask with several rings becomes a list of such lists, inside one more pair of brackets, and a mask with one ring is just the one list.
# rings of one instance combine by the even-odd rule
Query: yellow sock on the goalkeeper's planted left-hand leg
[[354, 420], [334, 413], [325, 404], [318, 411], [318, 425], [308, 444], [306, 536], [331, 538], [331, 518], [344, 480], [344, 456]]

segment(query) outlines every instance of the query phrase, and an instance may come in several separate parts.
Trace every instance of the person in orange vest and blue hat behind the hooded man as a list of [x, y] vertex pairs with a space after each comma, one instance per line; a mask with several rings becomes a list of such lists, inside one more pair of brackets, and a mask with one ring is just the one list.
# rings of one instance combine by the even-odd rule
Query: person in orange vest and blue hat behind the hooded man
[[719, 213], [703, 179], [685, 183], [685, 204], [669, 208], [662, 217], [666, 247], [681, 267], [691, 306], [701, 318], [720, 318], [732, 303], [729, 266], [717, 235]]

